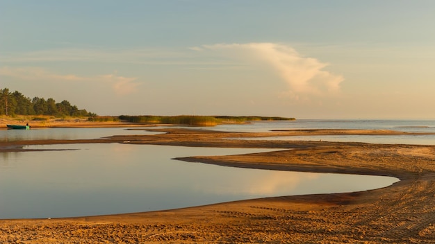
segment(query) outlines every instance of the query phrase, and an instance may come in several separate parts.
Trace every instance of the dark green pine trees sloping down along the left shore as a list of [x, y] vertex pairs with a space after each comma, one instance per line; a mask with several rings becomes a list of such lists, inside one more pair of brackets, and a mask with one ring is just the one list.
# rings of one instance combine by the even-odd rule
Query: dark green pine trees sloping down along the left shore
[[0, 114], [6, 116], [19, 115], [52, 115], [52, 116], [96, 116], [86, 110], [79, 110], [69, 101], [56, 103], [53, 98], [28, 98], [21, 92], [10, 92], [8, 88], [0, 89]]

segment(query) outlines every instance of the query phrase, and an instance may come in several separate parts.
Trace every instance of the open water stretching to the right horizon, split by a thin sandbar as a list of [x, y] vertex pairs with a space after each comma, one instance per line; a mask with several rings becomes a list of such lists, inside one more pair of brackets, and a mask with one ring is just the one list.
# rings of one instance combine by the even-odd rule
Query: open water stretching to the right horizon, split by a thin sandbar
[[[248, 125], [219, 125], [213, 130], [270, 132], [270, 130], [297, 129], [357, 129], [357, 130], [396, 130], [401, 132], [435, 133], [435, 121], [418, 120], [379, 120], [379, 121], [334, 121], [334, 120], [297, 120], [297, 121], [265, 121]], [[238, 138], [249, 140], [294, 140], [294, 141], [355, 141], [384, 144], [435, 145], [435, 134], [421, 135], [319, 135], [289, 137], [256, 137]]]

